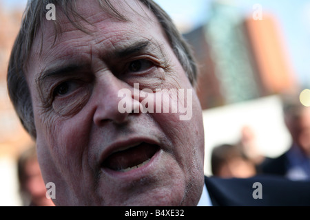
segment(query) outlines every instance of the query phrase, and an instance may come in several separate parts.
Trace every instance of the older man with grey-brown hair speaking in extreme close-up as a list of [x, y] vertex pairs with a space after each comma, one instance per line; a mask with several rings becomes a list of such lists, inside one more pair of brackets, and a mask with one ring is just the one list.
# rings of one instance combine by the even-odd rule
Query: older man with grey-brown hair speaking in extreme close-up
[[[46, 19], [48, 3], [55, 20]], [[186, 43], [153, 1], [30, 1], [8, 89], [37, 142], [43, 178], [56, 186], [54, 203], [253, 204], [253, 180], [205, 180], [196, 75]], [[185, 107], [190, 117], [181, 120]]]

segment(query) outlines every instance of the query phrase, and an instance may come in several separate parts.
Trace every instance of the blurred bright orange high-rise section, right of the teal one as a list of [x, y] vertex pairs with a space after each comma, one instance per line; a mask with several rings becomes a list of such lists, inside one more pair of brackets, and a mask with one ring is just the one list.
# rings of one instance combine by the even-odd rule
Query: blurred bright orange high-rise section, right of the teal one
[[281, 94], [297, 89], [277, 19], [264, 14], [262, 20], [245, 18], [243, 24], [265, 94]]

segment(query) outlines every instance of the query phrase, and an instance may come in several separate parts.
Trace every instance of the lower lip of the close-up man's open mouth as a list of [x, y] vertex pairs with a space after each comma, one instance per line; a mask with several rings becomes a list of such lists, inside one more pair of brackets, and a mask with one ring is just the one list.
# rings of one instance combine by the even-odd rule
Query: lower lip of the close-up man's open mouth
[[158, 160], [161, 157], [161, 149], [159, 149], [153, 157], [149, 160], [147, 164], [144, 164], [143, 166], [140, 166], [138, 168], [134, 168], [132, 170], [128, 170], [127, 172], [121, 172], [116, 170], [111, 170], [110, 168], [101, 168], [104, 173], [107, 175], [110, 175], [111, 177], [117, 178], [117, 179], [123, 179], [124, 181], [130, 181], [134, 179], [140, 179], [141, 177], [144, 177], [148, 175], [149, 173], [152, 173], [152, 170], [154, 170]]

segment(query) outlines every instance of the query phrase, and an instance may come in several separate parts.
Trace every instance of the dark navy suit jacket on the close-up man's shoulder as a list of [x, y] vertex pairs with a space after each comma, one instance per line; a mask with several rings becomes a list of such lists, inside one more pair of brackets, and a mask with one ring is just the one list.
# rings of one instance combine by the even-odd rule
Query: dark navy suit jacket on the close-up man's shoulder
[[[262, 199], [253, 192], [262, 186]], [[205, 177], [213, 206], [310, 206], [310, 181], [290, 181], [285, 177], [258, 175], [247, 179]]]

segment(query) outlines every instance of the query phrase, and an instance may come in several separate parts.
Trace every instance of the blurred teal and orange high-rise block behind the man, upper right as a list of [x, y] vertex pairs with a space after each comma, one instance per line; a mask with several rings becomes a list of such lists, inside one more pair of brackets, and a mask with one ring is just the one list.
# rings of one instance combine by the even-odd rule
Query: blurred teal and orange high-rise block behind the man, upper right
[[244, 17], [235, 5], [218, 1], [209, 15], [205, 25], [184, 35], [199, 63], [203, 109], [295, 89], [276, 19]]

